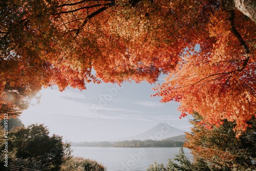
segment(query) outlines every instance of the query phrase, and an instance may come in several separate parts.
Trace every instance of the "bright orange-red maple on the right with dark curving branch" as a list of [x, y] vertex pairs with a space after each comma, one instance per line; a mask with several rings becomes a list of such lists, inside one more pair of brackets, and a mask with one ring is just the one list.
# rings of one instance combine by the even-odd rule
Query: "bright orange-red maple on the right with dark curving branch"
[[238, 11], [222, 8], [203, 17], [207, 22], [197, 28], [201, 33], [194, 33], [200, 49], [188, 47], [155, 96], [179, 102], [181, 117], [197, 111], [210, 124], [236, 121], [239, 136], [256, 114], [255, 24]]

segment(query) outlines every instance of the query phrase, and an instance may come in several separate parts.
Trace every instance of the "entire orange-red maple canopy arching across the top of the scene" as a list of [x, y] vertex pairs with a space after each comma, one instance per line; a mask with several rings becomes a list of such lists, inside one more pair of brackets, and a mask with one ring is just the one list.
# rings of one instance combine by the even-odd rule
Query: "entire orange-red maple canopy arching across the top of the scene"
[[255, 116], [255, 23], [219, 1], [3, 0], [0, 17], [1, 110], [22, 110], [42, 87], [168, 74], [155, 95], [182, 116], [236, 121], [238, 132]]

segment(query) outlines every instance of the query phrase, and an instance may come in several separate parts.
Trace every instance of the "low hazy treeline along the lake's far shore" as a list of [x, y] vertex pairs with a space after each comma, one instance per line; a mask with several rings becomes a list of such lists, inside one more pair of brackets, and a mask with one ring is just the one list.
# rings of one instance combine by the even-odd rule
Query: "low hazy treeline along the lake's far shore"
[[132, 140], [132, 141], [101, 141], [101, 142], [74, 142], [72, 146], [86, 147], [182, 147], [184, 142], [171, 140]]

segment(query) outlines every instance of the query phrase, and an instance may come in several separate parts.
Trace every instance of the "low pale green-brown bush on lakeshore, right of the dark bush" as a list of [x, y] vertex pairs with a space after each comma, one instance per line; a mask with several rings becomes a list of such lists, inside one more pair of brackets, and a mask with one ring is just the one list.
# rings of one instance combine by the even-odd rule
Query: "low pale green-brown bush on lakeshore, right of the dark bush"
[[60, 171], [104, 171], [106, 168], [95, 160], [84, 159], [82, 157], [70, 157], [60, 166]]

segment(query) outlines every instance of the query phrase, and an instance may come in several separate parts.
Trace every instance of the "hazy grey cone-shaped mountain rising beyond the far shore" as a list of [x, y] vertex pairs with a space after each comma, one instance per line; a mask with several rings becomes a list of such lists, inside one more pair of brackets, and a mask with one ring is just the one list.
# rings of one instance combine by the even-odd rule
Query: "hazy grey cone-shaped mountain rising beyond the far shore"
[[152, 140], [163, 140], [169, 137], [174, 137], [178, 135], [184, 135], [185, 131], [176, 129], [173, 126], [170, 126], [167, 123], [159, 123], [158, 125], [152, 127], [152, 129], [147, 130], [141, 134], [118, 139], [116, 141], [125, 141], [125, 140], [146, 140], [146, 139], [152, 139]]

